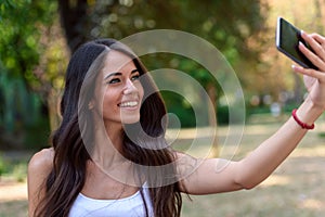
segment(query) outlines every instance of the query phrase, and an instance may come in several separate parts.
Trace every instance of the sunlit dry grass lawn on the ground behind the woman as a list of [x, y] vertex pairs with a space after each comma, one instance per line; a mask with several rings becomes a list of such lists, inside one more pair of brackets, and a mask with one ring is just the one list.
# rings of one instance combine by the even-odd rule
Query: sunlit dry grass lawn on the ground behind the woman
[[[268, 124], [249, 124], [245, 127], [242, 143], [234, 159], [239, 159], [271, 136], [282, 120]], [[316, 129], [310, 131], [300, 145], [276, 171], [253, 190], [222, 193], [216, 195], [184, 196], [183, 217], [222, 216], [222, 217], [317, 217], [325, 214], [325, 131], [323, 122], [316, 123]], [[232, 133], [235, 131], [232, 131]], [[184, 137], [193, 133], [185, 131]], [[225, 141], [226, 127], [218, 129], [219, 144]], [[204, 135], [199, 132], [199, 135]], [[180, 141], [185, 145], [188, 138]], [[204, 137], [202, 138], [204, 140]], [[199, 153], [207, 150], [205, 144], [188, 151]], [[222, 157], [231, 157], [234, 146], [223, 148]], [[30, 153], [21, 157], [20, 164], [28, 161]], [[17, 163], [17, 161], [14, 161]], [[2, 176], [0, 179], [0, 217], [21, 217], [27, 215], [26, 166], [18, 166], [18, 175]], [[16, 181], [20, 180], [20, 181]]]

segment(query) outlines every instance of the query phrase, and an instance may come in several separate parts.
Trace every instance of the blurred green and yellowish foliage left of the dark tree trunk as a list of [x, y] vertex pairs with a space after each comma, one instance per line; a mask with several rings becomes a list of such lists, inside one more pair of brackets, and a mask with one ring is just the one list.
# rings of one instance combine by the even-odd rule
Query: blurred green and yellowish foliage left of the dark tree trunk
[[[53, 40], [60, 47], [51, 47], [54, 42], [50, 43], [49, 39], [58, 31], [58, 24], [56, 29], [53, 28], [55, 20], [57, 21], [56, 9], [57, 3], [51, 0], [0, 2], [2, 149], [44, 145], [42, 142], [49, 136], [47, 100], [53, 85], [57, 84], [60, 66], [51, 69], [48, 59], [56, 64], [64, 58], [60, 53], [60, 40]], [[37, 144], [38, 142], [42, 144]]]

